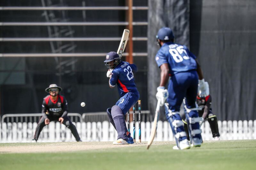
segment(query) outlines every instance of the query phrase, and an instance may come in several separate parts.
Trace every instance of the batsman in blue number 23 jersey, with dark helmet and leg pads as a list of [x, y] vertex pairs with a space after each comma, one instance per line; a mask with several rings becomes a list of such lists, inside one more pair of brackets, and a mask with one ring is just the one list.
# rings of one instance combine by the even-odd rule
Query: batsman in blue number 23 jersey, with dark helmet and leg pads
[[107, 109], [109, 122], [118, 133], [117, 140], [113, 144], [133, 144], [133, 138], [127, 130], [124, 115], [140, 98], [133, 76], [133, 72], [138, 70], [137, 66], [121, 61], [116, 52], [109, 52], [104, 62], [109, 69], [107, 72], [109, 87], [114, 88], [117, 85], [120, 94], [116, 105]]

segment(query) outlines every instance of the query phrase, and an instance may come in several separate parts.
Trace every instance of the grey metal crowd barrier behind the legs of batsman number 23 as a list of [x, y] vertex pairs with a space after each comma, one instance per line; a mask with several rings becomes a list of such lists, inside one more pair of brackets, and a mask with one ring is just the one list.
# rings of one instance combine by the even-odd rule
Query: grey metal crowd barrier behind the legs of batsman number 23
[[[148, 122], [149, 121], [149, 110], [142, 110], [141, 111], [141, 122]], [[136, 112], [135, 115], [138, 115]], [[108, 121], [108, 115], [106, 112], [92, 112], [92, 113], [84, 113], [82, 115], [83, 121], [87, 122], [103, 122]], [[136, 119], [138, 120], [138, 119]]]

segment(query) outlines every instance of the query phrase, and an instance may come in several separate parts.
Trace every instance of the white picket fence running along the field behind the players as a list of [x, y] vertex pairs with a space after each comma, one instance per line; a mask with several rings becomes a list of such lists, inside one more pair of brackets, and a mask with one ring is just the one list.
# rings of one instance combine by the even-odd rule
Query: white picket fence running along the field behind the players
[[[82, 141], [114, 141], [117, 133], [107, 122], [74, 122]], [[148, 141], [151, 129], [150, 122], [141, 122], [141, 141]], [[132, 124], [130, 124], [132, 129]], [[256, 139], [256, 120], [252, 121], [218, 121], [220, 139]], [[0, 142], [31, 142], [37, 123], [18, 122], [0, 124]], [[138, 122], [136, 122], [136, 139], [138, 139]], [[212, 140], [209, 123], [206, 121], [202, 128], [203, 140]], [[42, 130], [38, 142], [76, 141], [71, 131], [59, 122], [50, 122]], [[155, 141], [174, 141], [168, 122], [158, 121]]]

